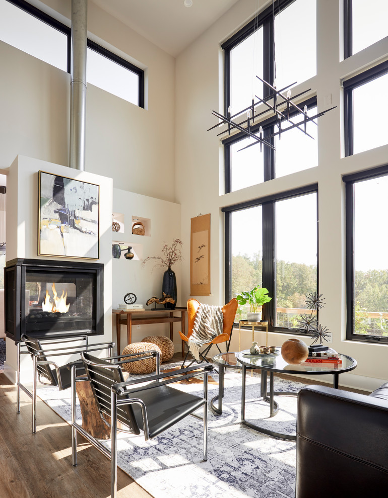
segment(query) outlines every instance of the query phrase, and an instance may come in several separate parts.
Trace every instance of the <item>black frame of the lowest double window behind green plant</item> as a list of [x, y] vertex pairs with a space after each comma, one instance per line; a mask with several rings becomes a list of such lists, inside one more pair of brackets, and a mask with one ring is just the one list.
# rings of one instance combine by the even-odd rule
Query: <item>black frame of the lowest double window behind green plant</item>
[[223, 207], [221, 211], [224, 213], [224, 234], [225, 234], [225, 302], [229, 302], [232, 298], [232, 240], [231, 240], [231, 215], [233, 212], [241, 211], [247, 208], [262, 206], [262, 231], [263, 231], [263, 275], [262, 286], [268, 289], [269, 295], [273, 297], [270, 303], [263, 306], [263, 319], [268, 320], [268, 330], [271, 332], [281, 332], [287, 334], [299, 334], [297, 328], [285, 328], [274, 326], [276, 317], [276, 230], [275, 230], [275, 203], [286, 199], [292, 199], [302, 195], [316, 193], [316, 292], [319, 288], [319, 238], [318, 238], [318, 184], [310, 184], [297, 189], [288, 190], [278, 194], [269, 195], [253, 199], [250, 201], [234, 204], [232, 206]]

